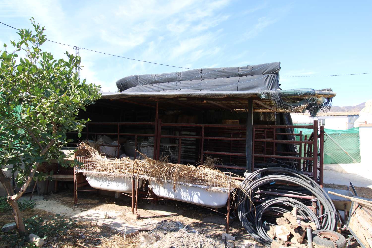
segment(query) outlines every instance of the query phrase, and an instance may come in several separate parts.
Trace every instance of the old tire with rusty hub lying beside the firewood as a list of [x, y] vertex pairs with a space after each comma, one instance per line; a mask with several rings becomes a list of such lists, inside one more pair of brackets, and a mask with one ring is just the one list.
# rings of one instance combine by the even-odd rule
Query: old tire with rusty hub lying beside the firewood
[[317, 230], [312, 232], [312, 242], [316, 247], [345, 248], [346, 239], [338, 232]]

